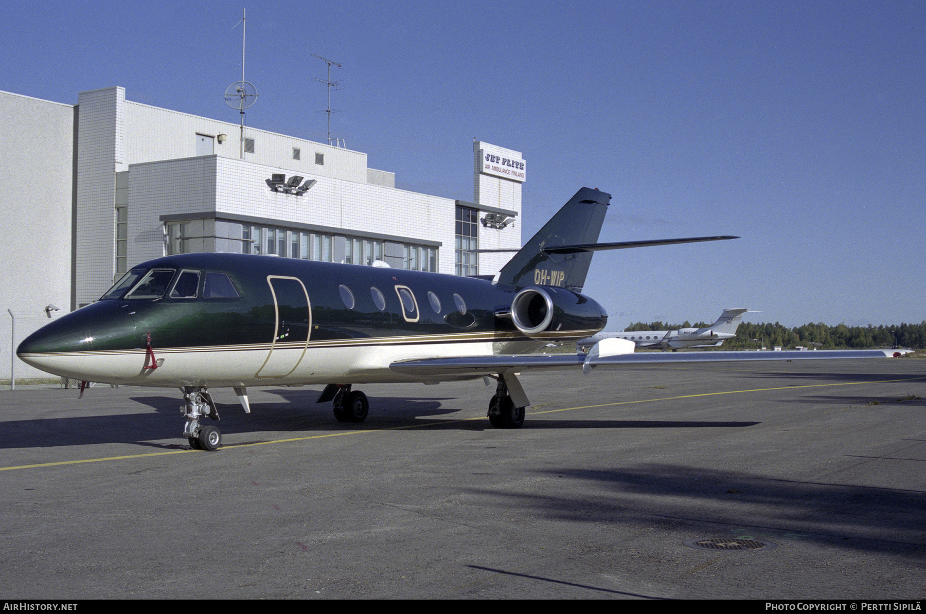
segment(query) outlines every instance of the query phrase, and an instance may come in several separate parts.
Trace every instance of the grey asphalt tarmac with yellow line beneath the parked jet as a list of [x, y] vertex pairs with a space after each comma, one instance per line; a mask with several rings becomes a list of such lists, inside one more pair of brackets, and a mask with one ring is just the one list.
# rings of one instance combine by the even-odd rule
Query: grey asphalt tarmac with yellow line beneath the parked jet
[[0, 596], [926, 596], [926, 360], [522, 382], [510, 431], [481, 380], [219, 389], [216, 452], [174, 389], [0, 391]]

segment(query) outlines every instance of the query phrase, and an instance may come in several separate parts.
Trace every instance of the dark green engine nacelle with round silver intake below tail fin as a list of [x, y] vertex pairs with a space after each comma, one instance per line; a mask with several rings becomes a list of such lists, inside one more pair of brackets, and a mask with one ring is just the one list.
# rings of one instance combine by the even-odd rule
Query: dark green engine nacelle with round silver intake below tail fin
[[511, 321], [531, 338], [540, 337], [542, 332], [559, 332], [568, 337], [570, 331], [584, 338], [605, 328], [607, 313], [594, 299], [577, 292], [532, 286], [515, 294]]

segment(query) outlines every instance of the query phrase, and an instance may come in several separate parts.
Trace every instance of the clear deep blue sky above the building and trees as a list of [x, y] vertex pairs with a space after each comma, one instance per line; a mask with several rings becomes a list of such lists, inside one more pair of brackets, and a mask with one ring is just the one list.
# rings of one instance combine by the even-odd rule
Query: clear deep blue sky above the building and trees
[[582, 186], [613, 195], [602, 240], [742, 236], [597, 254], [609, 330], [926, 320], [921, 0], [12, 0], [0, 90], [236, 122], [243, 8], [251, 126], [324, 142], [324, 56], [332, 133], [397, 187], [471, 200], [478, 138], [524, 153], [524, 240]]

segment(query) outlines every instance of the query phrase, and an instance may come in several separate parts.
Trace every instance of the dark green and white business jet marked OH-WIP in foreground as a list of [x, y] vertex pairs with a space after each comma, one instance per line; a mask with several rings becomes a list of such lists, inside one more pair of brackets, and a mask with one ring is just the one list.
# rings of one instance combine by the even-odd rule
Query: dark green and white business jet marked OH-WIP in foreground
[[[531, 405], [519, 373], [637, 362], [885, 357], [856, 352], [633, 354], [604, 339], [587, 355], [532, 354], [601, 331], [607, 313], [582, 286], [595, 251], [735, 239], [707, 236], [597, 243], [610, 194], [582, 188], [494, 279], [245, 254], [160, 257], [125, 274], [100, 299], [32, 333], [17, 355], [81, 382], [179, 387], [183, 435], [215, 450], [221, 432], [210, 387], [324, 385], [334, 417], [366, 420], [356, 384], [488, 377], [488, 418], [518, 428]], [[725, 358], [723, 357], [725, 356]], [[661, 360], [658, 360], [662, 358]], [[489, 380], [491, 381], [491, 380]]]

